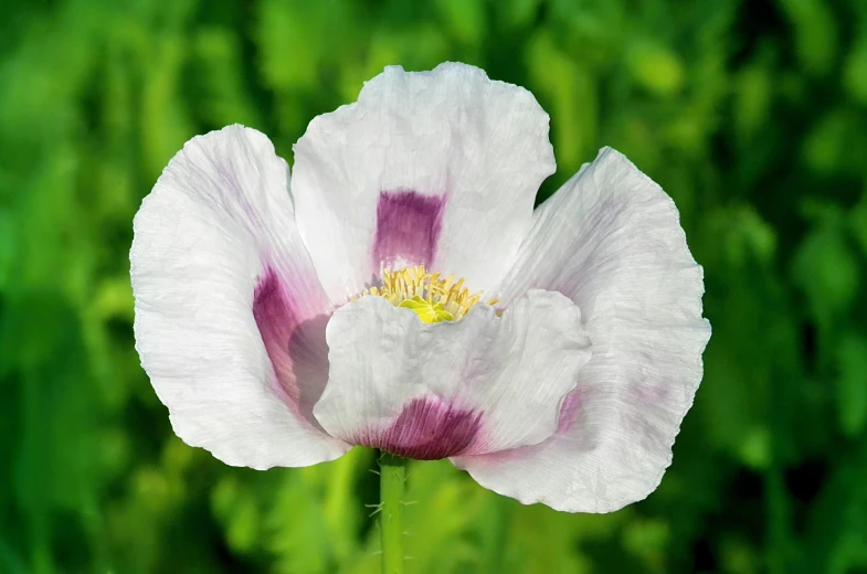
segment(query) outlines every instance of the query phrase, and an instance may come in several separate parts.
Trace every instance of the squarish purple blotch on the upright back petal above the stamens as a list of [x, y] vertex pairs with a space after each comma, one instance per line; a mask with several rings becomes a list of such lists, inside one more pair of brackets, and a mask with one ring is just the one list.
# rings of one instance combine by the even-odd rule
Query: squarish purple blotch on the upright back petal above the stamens
[[383, 191], [377, 203], [373, 268], [431, 265], [442, 231], [445, 195]]

